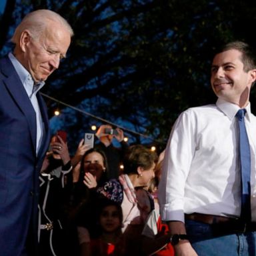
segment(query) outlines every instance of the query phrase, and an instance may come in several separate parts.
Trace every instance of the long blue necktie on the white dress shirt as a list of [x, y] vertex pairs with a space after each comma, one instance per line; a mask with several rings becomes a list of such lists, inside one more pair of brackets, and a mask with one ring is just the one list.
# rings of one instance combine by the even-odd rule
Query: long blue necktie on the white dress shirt
[[245, 129], [245, 109], [237, 111], [239, 124], [239, 152], [241, 161], [241, 219], [251, 221], [251, 154], [247, 132]]

